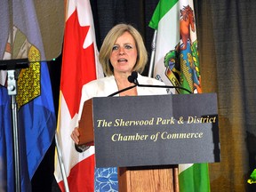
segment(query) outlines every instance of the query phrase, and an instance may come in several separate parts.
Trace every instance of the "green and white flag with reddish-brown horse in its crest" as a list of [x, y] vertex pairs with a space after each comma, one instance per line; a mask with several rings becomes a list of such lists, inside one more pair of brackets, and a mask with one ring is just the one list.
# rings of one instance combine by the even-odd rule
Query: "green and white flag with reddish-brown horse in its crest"
[[[165, 84], [202, 92], [192, 0], [160, 0], [149, 22], [157, 30], [154, 77]], [[173, 93], [188, 93], [175, 90]], [[181, 192], [210, 191], [208, 164], [180, 164]]]

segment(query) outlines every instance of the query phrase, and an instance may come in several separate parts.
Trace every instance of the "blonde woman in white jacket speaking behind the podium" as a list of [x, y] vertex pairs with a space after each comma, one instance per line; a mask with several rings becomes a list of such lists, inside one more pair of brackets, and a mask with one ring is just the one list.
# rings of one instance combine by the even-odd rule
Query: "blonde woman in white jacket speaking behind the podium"
[[[105, 77], [84, 85], [82, 103], [93, 97], [106, 97], [113, 92], [132, 86], [133, 83], [128, 81], [128, 76], [131, 76], [132, 71], [138, 72], [138, 82], [140, 84], [164, 85], [163, 82], [154, 78], [140, 75], [147, 64], [148, 53], [140, 33], [131, 25], [118, 24], [108, 32], [101, 46], [99, 59]], [[125, 92], [120, 92], [116, 96], [166, 93], [165, 89], [136, 86]], [[81, 113], [82, 108], [79, 111], [78, 118], [81, 117]], [[71, 134], [71, 138], [76, 145], [79, 143], [79, 135], [78, 127], [76, 127]], [[116, 168], [96, 168], [94, 175], [95, 191], [118, 191]]]

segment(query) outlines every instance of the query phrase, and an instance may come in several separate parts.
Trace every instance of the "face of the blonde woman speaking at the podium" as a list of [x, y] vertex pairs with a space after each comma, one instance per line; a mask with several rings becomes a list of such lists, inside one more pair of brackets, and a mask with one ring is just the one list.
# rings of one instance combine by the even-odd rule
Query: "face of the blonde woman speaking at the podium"
[[112, 48], [110, 62], [115, 73], [131, 73], [137, 60], [137, 47], [129, 32], [116, 39]]

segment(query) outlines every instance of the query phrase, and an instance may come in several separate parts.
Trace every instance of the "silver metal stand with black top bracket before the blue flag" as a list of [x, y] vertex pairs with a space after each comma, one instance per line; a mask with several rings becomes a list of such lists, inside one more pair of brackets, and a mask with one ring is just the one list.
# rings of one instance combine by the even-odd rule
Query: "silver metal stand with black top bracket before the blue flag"
[[28, 59], [0, 60], [0, 69], [7, 70], [7, 90], [8, 95], [11, 96], [15, 192], [20, 192], [20, 137], [18, 129], [18, 108], [16, 101], [16, 69], [18, 68], [28, 68]]

